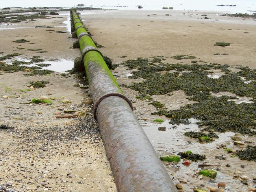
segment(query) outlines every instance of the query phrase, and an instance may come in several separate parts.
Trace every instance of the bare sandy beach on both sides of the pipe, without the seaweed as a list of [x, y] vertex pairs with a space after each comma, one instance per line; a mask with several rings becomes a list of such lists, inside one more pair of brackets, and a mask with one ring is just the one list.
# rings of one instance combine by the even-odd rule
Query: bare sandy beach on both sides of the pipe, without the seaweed
[[[224, 17], [219, 12], [197, 11], [94, 10], [81, 13], [94, 41], [104, 46], [99, 49], [100, 52], [112, 59], [113, 64], [137, 57], [161, 56], [165, 59], [164, 63], [190, 65], [193, 59], [177, 60], [172, 56], [191, 55], [199, 63], [228, 64], [234, 72], [239, 71], [236, 68], [238, 65], [256, 68], [256, 20], [252, 18]], [[46, 76], [30, 76], [31, 70], [13, 73], [0, 71], [0, 125], [10, 127], [0, 129], [0, 191], [116, 191], [104, 145], [93, 118], [88, 84], [79, 75], [64, 73], [72, 68], [72, 61], [80, 56], [80, 50], [72, 48], [76, 39], [70, 38], [71, 34], [63, 23], [70, 24], [69, 12], [59, 12], [59, 15], [51, 17], [28, 23], [19, 22], [17, 25], [9, 23], [6, 26], [2, 23], [0, 26], [0, 52], [4, 52], [0, 56], [22, 54], [0, 62], [29, 61], [35, 55], [45, 60], [40, 63], [56, 61], [52, 66], [43, 68], [56, 71]], [[12, 42], [17, 39], [30, 42]], [[216, 42], [229, 42], [230, 46], [215, 46]], [[46, 52], [37, 53], [28, 49]], [[136, 70], [119, 65], [112, 73], [119, 85], [132, 85], [144, 80], [128, 78]], [[223, 75], [220, 70], [214, 72]], [[43, 88], [30, 88], [31, 81], [39, 80], [49, 83]], [[134, 113], [159, 156], [191, 149], [207, 156], [207, 160], [195, 162], [189, 167], [181, 162], [165, 164], [174, 183], [183, 185], [180, 191], [193, 191], [198, 186], [209, 190], [217, 188], [219, 182], [226, 183], [227, 192], [255, 188], [254, 161], [242, 161], [230, 155], [225, 155], [224, 160], [216, 159], [216, 156], [223, 154], [223, 150], [216, 146], [243, 149], [242, 146], [234, 146], [230, 138], [234, 132], [217, 133], [219, 139], [200, 144], [194, 138], [183, 135], [186, 129], [198, 130], [196, 122], [192, 120], [189, 128], [181, 124], [173, 129], [169, 118], [151, 114], [156, 108], [148, 105], [149, 101], [136, 98], [138, 91], [124, 86], [121, 89], [132, 100]], [[20, 104], [41, 96], [47, 96], [52, 105]], [[182, 90], [152, 95], [152, 98], [165, 104], [169, 110], [196, 103], [188, 100]], [[247, 97], [239, 99], [249, 101]], [[63, 100], [70, 100], [70, 103]], [[77, 115], [87, 115], [56, 118], [67, 115], [64, 113], [67, 110], [74, 110]], [[75, 114], [74, 111], [72, 114]], [[166, 132], [158, 131], [159, 125], [153, 122], [157, 118], [164, 120], [161, 126], [167, 127]], [[255, 135], [243, 135], [243, 140], [255, 145]], [[215, 182], [195, 174], [200, 163], [220, 165]], [[247, 175], [250, 180], [245, 184], [241, 179], [233, 179], [234, 175]]]

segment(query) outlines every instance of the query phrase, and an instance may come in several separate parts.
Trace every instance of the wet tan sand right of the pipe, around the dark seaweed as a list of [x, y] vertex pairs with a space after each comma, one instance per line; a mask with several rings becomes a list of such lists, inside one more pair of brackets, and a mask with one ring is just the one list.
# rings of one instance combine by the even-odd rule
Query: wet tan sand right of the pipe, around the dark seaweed
[[[165, 14], [171, 16], [165, 16]], [[193, 13], [193, 15], [190, 15]], [[156, 15], [154, 15], [156, 14]], [[203, 14], [208, 18], [204, 19]], [[147, 16], [150, 15], [150, 16]], [[199, 17], [199, 18], [198, 18]], [[202, 19], [201, 19], [202, 18]], [[82, 19], [89, 19], [85, 26], [93, 34], [93, 39], [105, 48], [100, 51], [113, 59], [114, 64], [122, 63], [128, 59], [137, 57], [149, 58], [152, 56], [165, 56], [165, 62], [191, 63], [191, 59], [175, 60], [173, 55], [193, 55], [197, 61], [207, 63], [221, 63], [232, 65], [232, 71], [236, 65], [256, 68], [256, 22], [252, 19], [221, 17], [217, 13], [189, 12], [183, 15], [183, 11], [98, 11], [92, 15], [82, 15]], [[230, 42], [230, 46], [214, 46], [215, 42]], [[214, 55], [227, 54], [227, 55]], [[125, 55], [126, 57], [122, 57]], [[113, 75], [119, 84], [131, 85], [143, 81], [142, 78], [130, 79], [133, 70], [119, 65], [113, 70]], [[220, 70], [211, 70], [211, 78], [219, 78], [223, 75]], [[138, 100], [135, 96], [138, 92], [121, 87], [124, 93], [132, 100], [134, 113], [143, 126], [150, 142], [159, 156], [173, 155], [181, 151], [191, 150], [193, 153], [206, 155], [205, 161], [193, 162], [190, 166], [165, 163], [165, 167], [173, 178], [175, 184], [182, 184], [183, 191], [193, 191], [193, 188], [204, 189], [218, 188], [219, 182], [226, 183], [227, 192], [248, 191], [255, 188], [253, 182], [245, 185], [239, 179], [233, 179], [233, 175], [247, 175], [253, 178], [255, 175], [255, 162], [241, 161], [232, 158], [225, 153], [221, 145], [226, 145], [232, 150], [243, 147], [234, 146], [231, 136], [235, 133], [217, 133], [219, 139], [214, 142], [200, 144], [193, 138], [185, 137], [186, 131], [200, 131], [198, 120], [191, 119], [191, 124], [173, 126], [169, 124], [165, 116], [152, 115], [156, 108], [147, 100]], [[219, 95], [230, 93], [219, 93]], [[186, 104], [194, 103], [187, 99], [183, 91], [174, 91], [165, 95], [153, 95], [155, 101], [165, 104], [167, 109], [180, 109]], [[250, 98], [239, 98], [238, 102], [248, 102]], [[154, 119], [163, 119], [165, 122], [156, 124]], [[158, 131], [158, 127], [166, 127], [166, 131]], [[243, 141], [254, 142], [254, 136], [244, 136]], [[219, 149], [218, 149], [219, 148]], [[215, 159], [215, 156], [224, 155], [226, 160]], [[210, 167], [218, 170], [217, 178], [210, 182], [210, 178], [198, 177], [196, 174], [200, 168], [198, 164], [213, 164], [220, 167]], [[230, 167], [226, 165], [230, 164]], [[243, 168], [244, 165], [244, 168]], [[209, 168], [209, 167], [208, 167]], [[182, 191], [182, 190], [181, 190]]]

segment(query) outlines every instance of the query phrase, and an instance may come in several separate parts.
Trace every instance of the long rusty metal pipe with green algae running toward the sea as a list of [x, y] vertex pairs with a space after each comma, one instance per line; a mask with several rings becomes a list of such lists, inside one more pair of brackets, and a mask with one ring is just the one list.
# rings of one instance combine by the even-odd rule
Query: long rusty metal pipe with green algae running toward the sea
[[[74, 19], [78, 20], [75, 11]], [[75, 24], [100, 133], [119, 192], [177, 192], [156, 151], [108, 69], [102, 54]]]

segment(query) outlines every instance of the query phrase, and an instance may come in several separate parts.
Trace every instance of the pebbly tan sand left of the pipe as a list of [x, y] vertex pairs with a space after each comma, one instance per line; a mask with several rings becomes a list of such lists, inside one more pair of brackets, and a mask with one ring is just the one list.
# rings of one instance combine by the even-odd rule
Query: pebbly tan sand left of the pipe
[[[52, 17], [0, 26], [0, 52], [4, 52], [0, 56], [24, 53], [3, 62], [27, 61], [39, 55], [45, 59], [41, 63], [52, 64], [47, 67], [49, 70], [70, 70], [74, 58], [80, 56], [80, 50], [72, 48], [74, 39], [70, 38], [68, 28], [63, 24], [66, 21], [70, 25], [69, 17]], [[44, 25], [53, 28], [35, 28]], [[12, 42], [22, 38], [30, 42]], [[28, 51], [30, 48], [47, 52]], [[86, 86], [85, 89], [77, 87], [78, 83], [84, 84], [77, 76], [61, 76], [59, 72], [50, 76], [1, 72], [0, 125], [13, 128], [0, 129], [0, 191], [116, 191], [104, 145], [91, 112], [93, 105], [83, 103], [91, 99], [89, 89]], [[39, 80], [49, 83], [44, 88], [30, 89], [29, 82]], [[2, 98], [4, 95], [8, 98]], [[41, 96], [53, 98], [53, 105], [20, 104]], [[64, 99], [71, 103], [61, 103]], [[87, 111], [89, 114], [73, 119], [56, 118], [67, 114], [64, 110]]]

